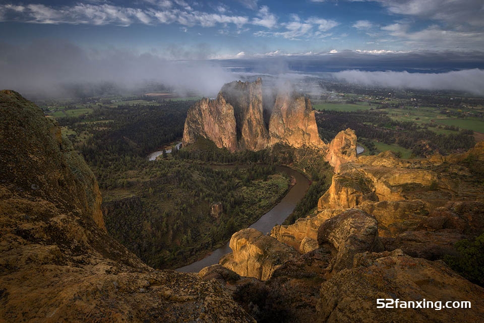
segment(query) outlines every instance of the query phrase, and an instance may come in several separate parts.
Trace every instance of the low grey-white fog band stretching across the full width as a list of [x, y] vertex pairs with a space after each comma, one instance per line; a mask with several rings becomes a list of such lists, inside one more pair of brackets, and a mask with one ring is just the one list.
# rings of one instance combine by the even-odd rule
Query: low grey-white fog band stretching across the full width
[[[378, 56], [374, 56], [377, 64]], [[344, 61], [344, 56], [340, 58]], [[369, 59], [368, 56], [362, 58]], [[317, 59], [313, 57], [313, 63]], [[334, 64], [338, 57], [332, 59], [320, 60], [320, 66]], [[388, 61], [388, 56], [385, 59]], [[294, 70], [300, 66], [300, 70]], [[331, 70], [332, 67], [326, 68]], [[432, 70], [408, 73], [402, 71], [402, 67], [396, 69], [399, 72], [364, 71], [348, 65], [339, 66], [338, 70], [321, 73], [318, 68], [308, 68], [308, 64], [302, 58], [298, 61], [297, 57], [260, 61], [233, 59], [228, 64], [217, 60], [166, 60], [152, 53], [140, 54], [116, 48], [86, 50], [66, 41], [44, 40], [30, 45], [0, 43], [0, 88], [13, 89], [27, 97], [72, 97], [79, 95], [79, 87], [92, 88], [103, 84], [129, 92], [150, 83], [164, 84], [179, 94], [196, 92], [212, 97], [224, 83], [241, 78], [252, 80], [262, 75], [264, 79], [265, 75], [268, 80], [273, 77], [296, 80], [323, 74], [325, 78], [367, 86], [458, 90], [484, 96], [484, 70], [478, 68], [445, 73], [427, 73]]]

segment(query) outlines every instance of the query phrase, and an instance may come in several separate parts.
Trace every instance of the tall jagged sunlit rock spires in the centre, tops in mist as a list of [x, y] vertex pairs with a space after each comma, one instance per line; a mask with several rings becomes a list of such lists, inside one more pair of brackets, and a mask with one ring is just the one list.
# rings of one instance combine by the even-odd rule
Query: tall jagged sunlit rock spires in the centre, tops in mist
[[[264, 116], [270, 114], [269, 118]], [[281, 90], [263, 102], [262, 80], [225, 84], [215, 100], [195, 103], [185, 121], [183, 146], [209, 139], [219, 148], [258, 151], [276, 143], [323, 148], [308, 98]]]

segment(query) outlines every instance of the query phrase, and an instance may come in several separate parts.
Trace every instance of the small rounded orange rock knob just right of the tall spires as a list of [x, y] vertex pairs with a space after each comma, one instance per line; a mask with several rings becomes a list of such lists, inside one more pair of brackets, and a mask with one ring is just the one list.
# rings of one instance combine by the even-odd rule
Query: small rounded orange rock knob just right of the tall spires
[[347, 128], [340, 131], [331, 141], [325, 160], [339, 173], [341, 164], [356, 160], [356, 135]]

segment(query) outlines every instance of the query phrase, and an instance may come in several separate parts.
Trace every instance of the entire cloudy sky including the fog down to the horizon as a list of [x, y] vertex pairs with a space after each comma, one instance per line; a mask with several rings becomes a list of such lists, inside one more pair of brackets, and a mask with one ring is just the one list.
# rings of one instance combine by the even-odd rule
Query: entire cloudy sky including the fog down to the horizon
[[[227, 67], [248, 63], [481, 72], [483, 17], [482, 0], [0, 0], [0, 87], [33, 83], [29, 77], [128, 82], [160, 74], [181, 83], [190, 69], [218, 76], [218, 86], [231, 77]], [[177, 60], [198, 63], [176, 75]]]

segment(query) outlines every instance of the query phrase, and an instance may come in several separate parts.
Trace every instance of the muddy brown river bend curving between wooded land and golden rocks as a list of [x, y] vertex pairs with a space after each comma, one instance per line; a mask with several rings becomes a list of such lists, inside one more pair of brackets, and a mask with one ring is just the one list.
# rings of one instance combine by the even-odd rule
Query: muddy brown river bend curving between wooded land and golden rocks
[[[235, 167], [235, 166], [220, 166], [220, 167]], [[239, 166], [243, 167], [243, 166]], [[309, 188], [309, 180], [301, 173], [290, 169], [289, 167], [277, 166], [278, 171], [284, 172], [289, 176], [293, 176], [296, 180], [294, 186], [287, 192], [287, 194], [282, 198], [282, 200], [273, 207], [269, 212], [264, 214], [259, 220], [253, 223], [250, 228], [257, 229], [263, 233], [270, 232], [272, 227], [281, 224], [284, 220], [292, 213], [297, 202], [299, 202], [302, 197], [306, 194]], [[212, 251], [205, 258], [192, 263], [190, 265], [180, 267], [176, 269], [179, 272], [185, 273], [198, 273], [202, 268], [207, 266], [218, 264], [219, 259], [232, 252], [232, 249], [228, 246], [228, 242], [221, 246], [220, 248]]]

